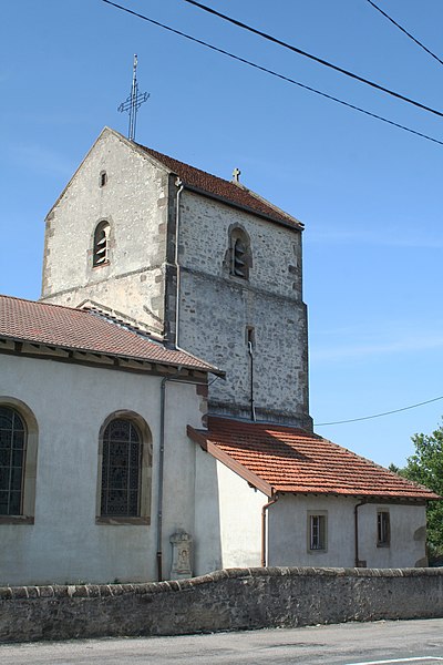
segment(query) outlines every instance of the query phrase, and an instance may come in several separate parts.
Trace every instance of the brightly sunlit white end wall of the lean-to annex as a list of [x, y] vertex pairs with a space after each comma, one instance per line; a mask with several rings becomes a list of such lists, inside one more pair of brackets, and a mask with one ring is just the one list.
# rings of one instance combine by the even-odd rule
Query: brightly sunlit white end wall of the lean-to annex
[[223, 567], [259, 566], [261, 508], [268, 499], [217, 461]]

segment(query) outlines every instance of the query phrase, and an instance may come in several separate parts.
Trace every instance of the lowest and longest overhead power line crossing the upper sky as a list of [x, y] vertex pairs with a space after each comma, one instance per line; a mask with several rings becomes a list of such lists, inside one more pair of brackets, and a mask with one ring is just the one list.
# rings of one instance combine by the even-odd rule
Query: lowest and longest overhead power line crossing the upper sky
[[195, 37], [192, 37], [190, 34], [187, 34], [186, 32], [182, 32], [181, 30], [176, 30], [174, 28], [171, 28], [169, 25], [165, 25], [164, 23], [161, 23], [159, 21], [155, 21], [154, 19], [151, 19], [144, 14], [141, 14], [136, 11], [133, 11], [132, 9], [128, 9], [127, 7], [123, 7], [122, 4], [117, 4], [116, 2], [112, 2], [111, 0], [102, 0], [102, 2], [105, 2], [106, 4], [111, 4], [112, 7], [115, 7], [116, 9], [121, 9], [122, 11], [125, 11], [126, 13], [133, 14], [134, 17], [137, 17], [138, 19], [142, 19], [144, 21], [147, 21], [148, 23], [152, 23], [154, 25], [157, 25], [159, 28], [163, 28], [164, 30], [167, 30], [169, 32], [173, 32], [174, 34], [178, 34], [179, 37], [184, 37], [185, 39], [188, 39], [189, 41], [193, 41], [197, 44], [200, 44], [203, 47], [206, 47], [207, 49], [210, 49], [212, 51], [216, 51], [217, 53], [222, 53], [223, 55], [227, 55], [228, 58], [231, 58], [233, 60], [237, 60], [238, 62], [243, 62], [244, 64], [247, 64], [248, 66], [251, 66], [254, 69], [257, 69], [261, 72], [265, 72], [267, 74], [270, 74], [272, 76], [276, 76], [277, 79], [281, 79], [282, 81], [286, 81], [287, 83], [291, 83], [292, 85], [298, 85], [299, 88], [302, 88], [303, 90], [308, 90], [309, 92], [313, 92], [315, 94], [318, 94], [320, 96], [323, 96], [328, 100], [331, 100], [333, 102], [337, 102], [338, 104], [341, 104], [343, 106], [347, 106], [348, 109], [352, 109], [354, 111], [358, 111], [359, 113], [363, 113], [364, 115], [369, 115], [370, 117], [374, 117], [375, 120], [380, 120], [381, 122], [384, 122], [387, 124], [393, 125], [394, 127], [398, 127], [400, 130], [403, 130], [405, 132], [409, 132], [410, 134], [415, 134], [416, 136], [421, 136], [422, 139], [426, 139], [426, 141], [432, 141], [433, 143], [437, 143], [439, 145], [443, 145], [443, 141], [439, 141], [439, 139], [434, 139], [433, 136], [430, 136], [429, 134], [424, 134], [423, 132], [418, 132], [416, 130], [412, 130], [411, 127], [408, 127], [406, 125], [400, 124], [398, 122], [394, 122], [393, 120], [388, 120], [387, 117], [383, 117], [382, 115], [378, 115], [377, 113], [372, 113], [371, 111], [367, 111], [365, 109], [362, 109], [361, 106], [357, 106], [356, 104], [351, 104], [349, 102], [346, 102], [343, 100], [340, 100], [339, 98], [336, 98], [331, 94], [328, 94], [326, 92], [322, 92], [320, 90], [317, 90], [316, 88], [311, 88], [310, 85], [306, 85], [305, 83], [300, 83], [299, 81], [295, 81], [293, 79], [290, 79], [289, 76], [285, 76], [284, 74], [279, 74], [278, 72], [270, 70], [266, 66], [261, 66], [260, 64], [256, 64], [255, 62], [251, 62], [250, 60], [246, 60], [245, 58], [240, 58], [239, 55], [235, 55], [234, 53], [230, 53], [229, 51], [225, 51], [224, 49], [219, 49], [218, 47], [214, 47], [213, 44], [209, 44], [208, 42], [205, 42], [200, 39], [197, 39]]

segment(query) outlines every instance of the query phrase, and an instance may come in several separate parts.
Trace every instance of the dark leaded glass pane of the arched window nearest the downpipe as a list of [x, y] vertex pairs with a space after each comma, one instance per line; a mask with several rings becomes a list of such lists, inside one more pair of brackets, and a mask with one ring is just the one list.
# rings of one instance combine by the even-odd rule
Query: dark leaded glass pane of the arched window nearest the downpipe
[[103, 434], [102, 510], [103, 516], [137, 516], [142, 440], [131, 420], [112, 420]]

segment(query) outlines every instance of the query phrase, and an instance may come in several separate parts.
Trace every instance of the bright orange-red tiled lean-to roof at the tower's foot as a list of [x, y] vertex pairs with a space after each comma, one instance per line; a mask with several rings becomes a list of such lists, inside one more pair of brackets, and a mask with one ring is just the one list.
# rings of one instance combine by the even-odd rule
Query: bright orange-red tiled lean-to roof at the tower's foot
[[188, 436], [268, 495], [439, 499], [427, 488], [300, 429], [213, 417], [207, 430], [188, 427]]

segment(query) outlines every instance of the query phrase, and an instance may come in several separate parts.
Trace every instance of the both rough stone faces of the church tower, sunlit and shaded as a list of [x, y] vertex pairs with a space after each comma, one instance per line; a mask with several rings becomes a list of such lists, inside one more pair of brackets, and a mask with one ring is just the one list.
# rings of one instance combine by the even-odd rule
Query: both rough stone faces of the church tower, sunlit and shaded
[[[258, 420], [309, 429], [300, 229], [184, 185], [104, 130], [48, 216], [42, 299], [92, 300], [217, 365], [226, 380], [210, 387], [212, 412], [250, 418], [254, 402]], [[101, 221], [111, 225], [110, 260], [93, 267]], [[250, 242], [248, 279], [230, 274], [234, 229]]]

